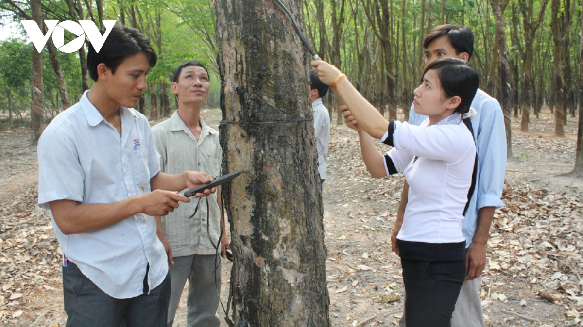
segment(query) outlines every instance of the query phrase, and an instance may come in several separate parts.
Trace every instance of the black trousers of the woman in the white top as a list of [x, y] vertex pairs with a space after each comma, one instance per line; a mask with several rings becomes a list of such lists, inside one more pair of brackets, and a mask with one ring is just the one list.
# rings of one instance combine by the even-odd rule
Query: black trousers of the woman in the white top
[[466, 276], [466, 262], [401, 258], [407, 327], [451, 327], [451, 316]]

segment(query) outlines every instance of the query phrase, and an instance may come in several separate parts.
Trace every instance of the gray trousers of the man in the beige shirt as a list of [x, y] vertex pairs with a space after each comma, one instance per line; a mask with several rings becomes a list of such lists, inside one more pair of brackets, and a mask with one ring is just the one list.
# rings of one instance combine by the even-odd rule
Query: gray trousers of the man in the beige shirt
[[[173, 259], [174, 265], [170, 266], [172, 293], [168, 305], [167, 327], [174, 324], [178, 302], [187, 279], [187, 327], [219, 327], [220, 319], [216, 312], [221, 286], [220, 255], [194, 254]], [[218, 266], [216, 269], [215, 264]]]

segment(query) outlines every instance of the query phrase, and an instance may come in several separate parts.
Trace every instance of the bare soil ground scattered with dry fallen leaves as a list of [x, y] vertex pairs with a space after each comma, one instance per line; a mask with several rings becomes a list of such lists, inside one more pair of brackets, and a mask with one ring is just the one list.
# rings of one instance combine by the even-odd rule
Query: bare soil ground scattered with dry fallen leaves
[[[206, 111], [203, 118], [216, 127], [220, 111]], [[514, 119], [505, 207], [490, 230], [481, 291], [487, 326], [560, 327], [580, 321], [583, 180], [561, 176], [574, 166], [576, 126], [569, 118], [567, 137], [557, 138], [549, 112], [532, 119], [529, 133], [520, 133]], [[0, 130], [0, 326], [66, 321], [60, 249], [48, 212], [36, 207], [37, 174], [27, 130]], [[403, 283], [390, 235], [402, 183], [402, 176], [371, 178], [357, 134], [333, 125], [323, 196], [332, 326], [398, 324]], [[225, 305], [230, 268], [223, 260]], [[175, 326], [185, 326], [185, 293]], [[224, 317], [221, 307], [218, 312]]]

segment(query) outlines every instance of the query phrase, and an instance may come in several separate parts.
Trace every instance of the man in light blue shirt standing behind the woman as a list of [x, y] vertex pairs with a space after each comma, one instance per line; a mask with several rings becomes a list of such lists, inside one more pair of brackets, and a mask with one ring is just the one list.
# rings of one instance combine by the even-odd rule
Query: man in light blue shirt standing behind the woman
[[[459, 58], [469, 61], [473, 52], [473, 34], [468, 27], [441, 25], [427, 33], [424, 40], [425, 64], [440, 58]], [[482, 271], [486, 265], [486, 243], [494, 210], [503, 206], [500, 200], [506, 170], [506, 133], [504, 115], [498, 101], [482, 90], [477, 90], [472, 102], [477, 116], [472, 119], [477, 148], [476, 189], [470, 199], [468, 211], [462, 221], [462, 233], [466, 239], [466, 282], [463, 283], [451, 320], [452, 327], [484, 326], [482, 303], [479, 297]], [[419, 125], [427, 116], [410, 109], [409, 123]], [[408, 197], [405, 182], [399, 214], [391, 241], [398, 254], [396, 234], [401, 229]], [[405, 326], [405, 315], [400, 322]]]

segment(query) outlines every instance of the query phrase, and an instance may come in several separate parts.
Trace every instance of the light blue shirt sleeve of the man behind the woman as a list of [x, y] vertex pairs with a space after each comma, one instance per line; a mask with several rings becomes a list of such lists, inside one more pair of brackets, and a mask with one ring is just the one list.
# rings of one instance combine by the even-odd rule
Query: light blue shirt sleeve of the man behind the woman
[[492, 99], [483, 102], [482, 112], [488, 112], [488, 116], [481, 119], [476, 136], [479, 172], [476, 207], [501, 208], [507, 157], [504, 114], [500, 104]]

